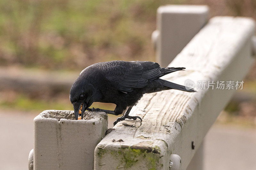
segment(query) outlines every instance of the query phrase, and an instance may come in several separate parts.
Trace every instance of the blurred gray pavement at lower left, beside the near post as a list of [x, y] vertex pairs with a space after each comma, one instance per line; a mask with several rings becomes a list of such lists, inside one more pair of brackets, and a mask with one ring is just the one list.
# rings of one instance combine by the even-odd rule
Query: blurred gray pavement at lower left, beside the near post
[[0, 110], [0, 169], [28, 169], [33, 149], [33, 119], [38, 113]]

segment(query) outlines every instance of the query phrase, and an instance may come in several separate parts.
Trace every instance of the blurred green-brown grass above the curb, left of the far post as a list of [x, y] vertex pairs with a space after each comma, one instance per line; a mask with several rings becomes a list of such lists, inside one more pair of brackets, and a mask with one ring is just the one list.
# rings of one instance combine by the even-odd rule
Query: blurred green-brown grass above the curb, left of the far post
[[149, 40], [165, 2], [2, 0], [0, 63], [83, 69], [100, 61], [154, 60]]

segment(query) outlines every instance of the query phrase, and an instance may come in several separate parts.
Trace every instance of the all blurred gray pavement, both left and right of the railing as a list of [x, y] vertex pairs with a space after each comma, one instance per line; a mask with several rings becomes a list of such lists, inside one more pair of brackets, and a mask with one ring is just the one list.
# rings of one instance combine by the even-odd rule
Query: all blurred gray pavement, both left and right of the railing
[[[1, 170], [28, 169], [33, 119], [38, 114], [0, 110]], [[204, 148], [205, 170], [256, 169], [256, 129], [215, 125], [205, 138]]]

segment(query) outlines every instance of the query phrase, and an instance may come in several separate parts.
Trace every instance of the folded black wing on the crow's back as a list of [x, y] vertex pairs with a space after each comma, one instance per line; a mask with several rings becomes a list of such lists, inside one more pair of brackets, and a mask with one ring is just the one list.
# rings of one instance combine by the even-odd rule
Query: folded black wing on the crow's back
[[184, 68], [162, 68], [158, 63], [149, 61], [111, 61], [101, 63], [106, 78], [113, 82], [119, 91], [131, 92], [142, 88], [156, 78]]

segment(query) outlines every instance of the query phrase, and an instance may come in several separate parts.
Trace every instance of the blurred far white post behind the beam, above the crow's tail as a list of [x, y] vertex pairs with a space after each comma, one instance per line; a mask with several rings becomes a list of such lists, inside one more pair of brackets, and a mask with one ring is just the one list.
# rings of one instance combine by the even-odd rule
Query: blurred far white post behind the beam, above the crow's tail
[[166, 5], [157, 9], [157, 30], [152, 34], [152, 42], [161, 66], [171, 63], [205, 25], [208, 11], [206, 5]]

